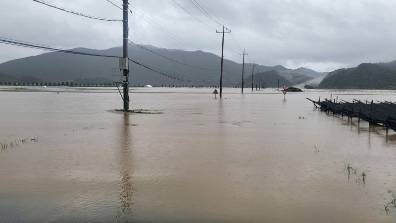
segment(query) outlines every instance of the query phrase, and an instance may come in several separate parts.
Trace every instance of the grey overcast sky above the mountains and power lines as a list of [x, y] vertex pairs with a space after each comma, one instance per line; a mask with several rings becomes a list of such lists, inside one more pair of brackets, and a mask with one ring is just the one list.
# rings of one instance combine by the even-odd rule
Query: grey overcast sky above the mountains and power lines
[[[87, 15], [122, 19], [122, 10], [107, 0], [46, 1]], [[122, 0], [111, 1], [122, 7]], [[238, 63], [242, 52], [232, 37], [249, 54], [245, 62], [267, 66], [324, 72], [396, 59], [395, 0], [131, 0], [130, 40], [221, 56], [216, 30], [222, 27], [192, 2], [231, 29], [233, 36], [225, 34], [224, 57]], [[172, 34], [161, 32], [150, 19]], [[0, 0], [0, 21], [0, 37], [20, 41], [66, 49], [122, 45], [122, 22], [86, 18], [33, 0]], [[0, 63], [46, 52], [0, 43]]]

